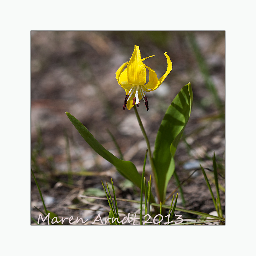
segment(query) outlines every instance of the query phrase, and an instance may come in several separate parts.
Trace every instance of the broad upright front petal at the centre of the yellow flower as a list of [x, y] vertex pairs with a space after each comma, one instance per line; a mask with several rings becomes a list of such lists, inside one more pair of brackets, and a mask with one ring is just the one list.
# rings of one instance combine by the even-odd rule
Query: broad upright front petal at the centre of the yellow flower
[[141, 51], [139, 46], [134, 46], [134, 51], [127, 65], [128, 82], [134, 85], [145, 84], [146, 68], [141, 59]]

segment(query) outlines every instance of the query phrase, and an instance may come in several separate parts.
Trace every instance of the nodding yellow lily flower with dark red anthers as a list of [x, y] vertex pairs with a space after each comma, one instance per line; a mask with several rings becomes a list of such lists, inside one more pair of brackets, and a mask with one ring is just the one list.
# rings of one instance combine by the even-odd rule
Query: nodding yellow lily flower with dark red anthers
[[[172, 61], [166, 53], [167, 52], [165, 52], [164, 55], [167, 59], [167, 71], [160, 77], [160, 79], [158, 79], [156, 72], [143, 63], [145, 59], [155, 55], [141, 59], [139, 46], [134, 46], [134, 51], [129, 62], [127, 61], [123, 63], [115, 73], [116, 80], [126, 92], [123, 110], [125, 110], [126, 106], [130, 110], [135, 104], [139, 107], [142, 98], [148, 110], [148, 99], [145, 92], [156, 90], [172, 70]], [[125, 68], [126, 65], [127, 67]], [[149, 80], [147, 84], [145, 84], [147, 75], [146, 68], [149, 72]]]

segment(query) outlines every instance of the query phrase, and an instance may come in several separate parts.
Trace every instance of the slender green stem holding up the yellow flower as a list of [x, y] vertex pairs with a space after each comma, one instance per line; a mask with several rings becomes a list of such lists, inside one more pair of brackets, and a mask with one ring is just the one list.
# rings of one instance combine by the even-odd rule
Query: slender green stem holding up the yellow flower
[[153, 174], [153, 177], [154, 177], [153, 181], [154, 181], [154, 185], [155, 185], [156, 196], [158, 198], [158, 202], [160, 202], [161, 199], [160, 199], [160, 194], [159, 194], [159, 189], [158, 189], [158, 180], [157, 180], [157, 175], [156, 175], [156, 168], [154, 166], [154, 162], [153, 162], [153, 158], [152, 158], [152, 154], [151, 154], [151, 149], [150, 149], [150, 143], [149, 143], [149, 140], [148, 140], [148, 136], [147, 136], [146, 131], [144, 129], [144, 126], [143, 126], [143, 123], [141, 121], [141, 117], [140, 117], [140, 115], [138, 113], [137, 108], [134, 107], [133, 109], [134, 109], [135, 115], [136, 115], [136, 117], [138, 119], [138, 122], [139, 122], [139, 125], [140, 125], [140, 128], [141, 128], [142, 134], [144, 136], [144, 139], [145, 139], [145, 141], [147, 143], [149, 162], [150, 162], [150, 165], [151, 165], [151, 168], [152, 168], [152, 174]]

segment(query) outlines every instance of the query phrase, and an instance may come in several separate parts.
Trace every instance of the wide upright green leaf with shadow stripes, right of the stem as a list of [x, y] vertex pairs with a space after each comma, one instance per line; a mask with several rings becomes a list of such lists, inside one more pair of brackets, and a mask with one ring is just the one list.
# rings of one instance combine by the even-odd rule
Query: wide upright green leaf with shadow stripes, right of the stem
[[168, 107], [156, 135], [153, 161], [161, 201], [166, 197], [167, 184], [175, 170], [174, 155], [189, 120], [192, 102], [192, 88], [188, 83], [183, 86]]

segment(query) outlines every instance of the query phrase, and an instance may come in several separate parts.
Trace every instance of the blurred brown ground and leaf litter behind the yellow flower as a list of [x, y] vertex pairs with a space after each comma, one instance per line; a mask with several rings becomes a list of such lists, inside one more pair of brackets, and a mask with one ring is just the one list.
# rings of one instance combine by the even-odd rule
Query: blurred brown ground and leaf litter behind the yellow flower
[[[190, 82], [193, 108], [176, 152], [177, 174], [183, 181], [200, 163], [212, 168], [215, 152], [218, 171], [224, 176], [225, 31], [32, 31], [31, 164], [48, 206], [61, 216], [84, 214], [71, 214], [67, 209], [88, 203], [80, 194], [104, 196], [101, 179], [112, 177], [119, 197], [137, 195], [133, 193], [136, 188], [91, 150], [65, 114], [79, 119], [99, 143], [119, 156], [113, 136], [124, 160], [133, 161], [142, 172], [146, 143], [134, 111], [123, 111], [125, 91], [115, 79], [134, 45], [140, 46], [142, 58], [155, 55], [144, 63], [158, 78], [167, 69], [164, 52], [173, 63], [164, 83], [146, 94], [149, 111], [144, 104], [138, 109], [152, 148], [166, 109]], [[146, 172], [150, 174], [149, 164]], [[36, 218], [33, 207], [41, 203], [31, 182], [32, 216]], [[169, 193], [175, 187], [171, 181]], [[187, 208], [208, 213], [214, 209], [201, 173], [186, 180], [184, 196]], [[222, 200], [224, 204], [224, 193]]]

